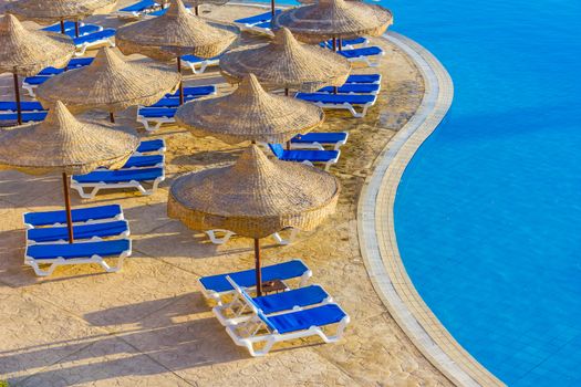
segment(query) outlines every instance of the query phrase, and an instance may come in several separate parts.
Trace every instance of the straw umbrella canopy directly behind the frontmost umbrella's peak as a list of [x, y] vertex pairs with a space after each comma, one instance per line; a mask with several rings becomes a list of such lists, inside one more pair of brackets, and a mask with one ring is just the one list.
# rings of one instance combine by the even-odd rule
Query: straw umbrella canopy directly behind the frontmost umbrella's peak
[[246, 140], [283, 143], [324, 121], [323, 111], [308, 102], [267, 93], [253, 74], [238, 88], [217, 98], [179, 107], [176, 122], [195, 136], [214, 136], [228, 144]]

